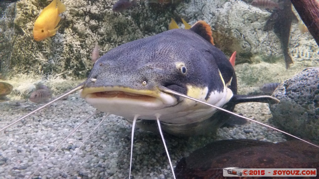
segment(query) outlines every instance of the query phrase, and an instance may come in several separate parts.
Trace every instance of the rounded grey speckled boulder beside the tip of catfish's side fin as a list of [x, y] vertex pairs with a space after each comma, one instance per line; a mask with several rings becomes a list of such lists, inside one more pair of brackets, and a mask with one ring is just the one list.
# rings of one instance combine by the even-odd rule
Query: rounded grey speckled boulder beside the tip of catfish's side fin
[[280, 84], [270, 105], [273, 124], [284, 131], [319, 141], [319, 67], [306, 68]]

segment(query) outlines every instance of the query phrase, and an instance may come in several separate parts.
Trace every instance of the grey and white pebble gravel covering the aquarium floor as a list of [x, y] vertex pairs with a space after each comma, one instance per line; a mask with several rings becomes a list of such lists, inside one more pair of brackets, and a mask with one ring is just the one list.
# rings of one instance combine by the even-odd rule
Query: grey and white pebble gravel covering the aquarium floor
[[[0, 127], [41, 106], [26, 101], [0, 103]], [[130, 166], [131, 125], [121, 117], [110, 115], [80, 147], [86, 136], [105, 116], [90, 118], [43, 164], [43, 160], [61, 141], [95, 109], [78, 94], [58, 101], [9, 127], [0, 134], [0, 178], [128, 178]], [[268, 124], [267, 104], [236, 105], [235, 112]], [[248, 122], [220, 128], [216, 135], [179, 138], [164, 136], [173, 166], [182, 157], [215, 140], [257, 139], [284, 141], [279, 132]], [[68, 165], [72, 155], [78, 151]], [[39, 167], [38, 170], [36, 168]], [[63, 173], [63, 170], [65, 172]], [[173, 178], [159, 135], [137, 129], [134, 136], [132, 176], [134, 178]]]

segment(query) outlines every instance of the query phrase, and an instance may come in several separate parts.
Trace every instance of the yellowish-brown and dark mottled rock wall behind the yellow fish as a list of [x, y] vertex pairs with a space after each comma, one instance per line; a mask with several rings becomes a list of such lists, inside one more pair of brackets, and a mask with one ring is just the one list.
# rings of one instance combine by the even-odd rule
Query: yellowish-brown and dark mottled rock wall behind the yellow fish
[[[84, 78], [91, 66], [91, 51], [97, 39], [100, 56], [123, 43], [167, 30], [171, 8], [166, 13], [153, 11], [145, 2], [123, 13], [112, 11], [116, 0], [65, 0], [67, 11], [60, 14], [56, 35], [43, 41], [33, 39], [33, 25], [51, 1], [18, 1], [14, 19], [14, 44], [10, 69], [19, 74], [56, 75]], [[165, 24], [165, 25], [164, 25]]]

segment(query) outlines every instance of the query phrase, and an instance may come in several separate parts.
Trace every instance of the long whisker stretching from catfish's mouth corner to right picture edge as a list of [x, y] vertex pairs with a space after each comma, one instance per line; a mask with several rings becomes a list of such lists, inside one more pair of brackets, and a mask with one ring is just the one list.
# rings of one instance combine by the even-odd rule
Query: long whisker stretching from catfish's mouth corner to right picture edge
[[[258, 122], [258, 121], [256, 121], [256, 120], [253, 120], [253, 119], [250, 119], [250, 118], [246, 118], [246, 117], [244, 117], [244, 116], [241, 116], [241, 115], [236, 114], [236, 113], [234, 113], [234, 112], [228, 111], [228, 110], [223, 109], [223, 108], [221, 108], [221, 107], [218, 107], [218, 106], [215, 106], [215, 105], [212, 105], [212, 104], [205, 103], [205, 102], [200, 101], [200, 100], [198, 100], [198, 99], [196, 99], [196, 98], [189, 97], [189, 96], [187, 96], [187, 95], [184, 95], [184, 94], [182, 94], [182, 93], [173, 91], [173, 90], [168, 89], [168, 88], [163, 88], [163, 89], [161, 89], [161, 90], [162, 90], [163, 92], [166, 92], [166, 93], [174, 94], [174, 95], [177, 95], [177, 96], [180, 96], [180, 97], [184, 97], [184, 98], [187, 98], [187, 99], [190, 99], [190, 100], [193, 100], [193, 101], [202, 103], [202, 104], [206, 104], [206, 105], [208, 105], [208, 106], [211, 106], [211, 107], [213, 107], [213, 108], [219, 109], [219, 110], [221, 110], [221, 111], [225, 111], [225, 112], [227, 112], [227, 113], [229, 113], [229, 114], [233, 114], [233, 115], [238, 116], [238, 117], [240, 117], [240, 118], [244, 118], [244, 119], [247, 119], [247, 120], [249, 120], [249, 121], [253, 121], [253, 122], [257, 123], [257, 124], [266, 126], [266, 127], [271, 128], [271, 129], [273, 129], [273, 130], [275, 130], [275, 131], [278, 131], [278, 132], [282, 132], [282, 133], [287, 134], [287, 135], [289, 135], [289, 136], [291, 136], [291, 137], [293, 137], [293, 138], [296, 138], [296, 139], [298, 139], [298, 140], [304, 141], [304, 142], [306, 142], [306, 143], [308, 143], [308, 144], [310, 144], [310, 145], [313, 145], [313, 146], [319, 148], [319, 146], [317, 146], [317, 145], [315, 145], [315, 144], [313, 144], [313, 143], [311, 143], [311, 142], [308, 142], [308, 141], [306, 141], [306, 140], [303, 140], [303, 139], [301, 139], [301, 138], [299, 138], [299, 137], [296, 137], [296, 136], [294, 136], [294, 135], [292, 135], [292, 134], [289, 134], [289, 133], [287, 133], [287, 132], [284, 132], [284, 131], [282, 131], [282, 130], [279, 130], [279, 129], [275, 128], [275, 127], [271, 127], [270, 125], [263, 124], [263, 123]], [[278, 100], [278, 99], [277, 99], [277, 100]]]

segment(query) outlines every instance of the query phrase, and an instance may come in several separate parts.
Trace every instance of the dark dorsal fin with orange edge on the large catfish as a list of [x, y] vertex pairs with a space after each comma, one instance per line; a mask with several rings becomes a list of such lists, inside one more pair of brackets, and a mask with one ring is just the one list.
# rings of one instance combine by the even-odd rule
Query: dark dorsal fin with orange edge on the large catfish
[[199, 20], [197, 21], [191, 28], [191, 31], [197, 33], [205, 40], [209, 41], [211, 44], [214, 44], [214, 39], [211, 36], [213, 33], [211, 32], [211, 26], [208, 25], [205, 21]]

